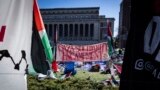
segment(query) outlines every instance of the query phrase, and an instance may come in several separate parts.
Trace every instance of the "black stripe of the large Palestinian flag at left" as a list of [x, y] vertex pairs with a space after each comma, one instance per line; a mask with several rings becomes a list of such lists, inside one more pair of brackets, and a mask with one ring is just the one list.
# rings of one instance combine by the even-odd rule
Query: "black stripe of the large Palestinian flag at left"
[[[34, 21], [34, 19], [33, 19]], [[31, 46], [31, 58], [32, 64], [37, 73], [47, 74], [49, 68], [49, 63], [46, 61], [46, 55], [44, 52], [44, 47], [42, 41], [36, 30], [35, 21], [33, 22], [33, 33], [32, 33], [32, 46]]]

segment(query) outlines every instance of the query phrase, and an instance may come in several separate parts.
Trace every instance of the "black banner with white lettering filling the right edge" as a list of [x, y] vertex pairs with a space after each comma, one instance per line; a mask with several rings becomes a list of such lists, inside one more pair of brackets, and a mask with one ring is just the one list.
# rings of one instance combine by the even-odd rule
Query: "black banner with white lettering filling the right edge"
[[[151, 36], [146, 43], [147, 28], [153, 18], [160, 18], [160, 13], [155, 13], [155, 8], [160, 7], [160, 0], [131, 0], [131, 28], [128, 35], [119, 90], [160, 90], [160, 62], [156, 56], [160, 49], [160, 42], [153, 53], [145, 52], [145, 45], [152, 49], [153, 37], [158, 23], [151, 24]], [[155, 6], [156, 4], [157, 6]], [[160, 9], [159, 9], [160, 11]], [[156, 19], [155, 19], [156, 20]], [[158, 19], [157, 19], [158, 20]], [[158, 21], [160, 22], [160, 21]], [[160, 23], [159, 23], [160, 24]], [[158, 31], [157, 31], [158, 32]], [[146, 35], [147, 36], [147, 35]], [[160, 36], [159, 36], [160, 38]], [[158, 39], [158, 38], [157, 38]], [[152, 51], [152, 50], [150, 50]]]

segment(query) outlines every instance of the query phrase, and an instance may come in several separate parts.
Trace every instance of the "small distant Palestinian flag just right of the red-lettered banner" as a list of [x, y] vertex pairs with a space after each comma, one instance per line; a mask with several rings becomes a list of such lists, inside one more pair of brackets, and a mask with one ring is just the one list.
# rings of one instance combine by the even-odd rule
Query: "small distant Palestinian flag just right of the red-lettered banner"
[[111, 31], [111, 22], [107, 20], [107, 42], [108, 42], [108, 53], [111, 56], [113, 53], [113, 37], [112, 37], [112, 31]]

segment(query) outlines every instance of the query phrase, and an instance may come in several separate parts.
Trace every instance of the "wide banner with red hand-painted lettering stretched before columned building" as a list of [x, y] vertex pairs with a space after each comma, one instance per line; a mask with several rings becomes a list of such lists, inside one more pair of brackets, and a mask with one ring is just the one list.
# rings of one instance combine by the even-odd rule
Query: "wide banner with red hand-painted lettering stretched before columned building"
[[93, 45], [57, 45], [57, 61], [100, 61], [107, 60], [107, 43]]

